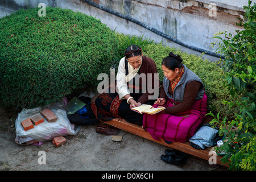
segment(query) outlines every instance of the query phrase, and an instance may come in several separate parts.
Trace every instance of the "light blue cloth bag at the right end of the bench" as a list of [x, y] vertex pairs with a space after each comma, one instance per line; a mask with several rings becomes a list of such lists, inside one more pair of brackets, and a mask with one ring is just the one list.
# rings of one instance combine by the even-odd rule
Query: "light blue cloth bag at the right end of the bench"
[[209, 126], [202, 126], [191, 139], [189, 142], [191, 144], [195, 144], [196, 146], [200, 147], [197, 149], [204, 149], [207, 147], [212, 147], [213, 139], [215, 138], [218, 130], [213, 129]]

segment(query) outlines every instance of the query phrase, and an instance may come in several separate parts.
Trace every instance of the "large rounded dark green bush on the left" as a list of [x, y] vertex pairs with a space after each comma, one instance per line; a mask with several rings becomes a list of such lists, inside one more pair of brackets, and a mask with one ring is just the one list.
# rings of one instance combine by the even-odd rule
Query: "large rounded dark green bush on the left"
[[117, 39], [100, 20], [72, 10], [20, 9], [0, 19], [0, 102], [12, 109], [55, 102], [97, 85], [117, 55]]

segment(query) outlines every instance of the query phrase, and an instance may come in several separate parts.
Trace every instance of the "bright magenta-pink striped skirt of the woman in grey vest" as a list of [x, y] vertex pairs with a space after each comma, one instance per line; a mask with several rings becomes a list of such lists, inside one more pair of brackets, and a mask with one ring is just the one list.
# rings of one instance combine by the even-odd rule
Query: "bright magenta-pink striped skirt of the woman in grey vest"
[[[169, 99], [165, 107], [172, 107], [173, 100]], [[171, 114], [144, 114], [143, 128], [155, 140], [163, 138], [170, 142], [186, 142], [191, 138], [207, 114], [207, 95], [195, 101], [191, 109], [176, 115]]]

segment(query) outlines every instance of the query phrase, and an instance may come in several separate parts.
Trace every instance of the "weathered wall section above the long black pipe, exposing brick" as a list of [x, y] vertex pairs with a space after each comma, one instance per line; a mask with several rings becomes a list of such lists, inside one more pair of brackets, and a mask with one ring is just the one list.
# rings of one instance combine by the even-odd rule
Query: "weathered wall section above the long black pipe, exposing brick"
[[[100, 0], [94, 1], [109, 9], [131, 16], [181, 42], [212, 50], [209, 42], [218, 31], [232, 33], [238, 28], [237, 17], [242, 17], [242, 4], [231, 1], [166, 1], [166, 0]], [[228, 2], [228, 3], [227, 3]], [[243, 2], [243, 3], [242, 3]], [[212, 13], [216, 5], [216, 16]], [[212, 10], [211, 10], [212, 9]]]

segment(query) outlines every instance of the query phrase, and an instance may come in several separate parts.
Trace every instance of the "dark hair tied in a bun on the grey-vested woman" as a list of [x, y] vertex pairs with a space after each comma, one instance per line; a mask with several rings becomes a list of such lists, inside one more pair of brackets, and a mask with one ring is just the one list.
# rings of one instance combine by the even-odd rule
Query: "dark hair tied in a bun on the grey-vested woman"
[[182, 61], [183, 59], [181, 59], [180, 55], [175, 55], [174, 53], [170, 52], [169, 56], [164, 57], [162, 65], [164, 65], [168, 69], [171, 69], [172, 71], [175, 71], [175, 68], [181, 68]]

